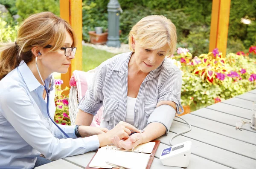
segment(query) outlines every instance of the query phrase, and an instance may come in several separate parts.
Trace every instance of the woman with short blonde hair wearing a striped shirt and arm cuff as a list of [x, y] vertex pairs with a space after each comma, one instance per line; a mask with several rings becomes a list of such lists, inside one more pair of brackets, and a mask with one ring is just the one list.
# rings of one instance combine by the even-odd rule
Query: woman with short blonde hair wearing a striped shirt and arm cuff
[[140, 20], [129, 34], [132, 52], [118, 54], [97, 68], [93, 85], [79, 105], [76, 124], [89, 126], [103, 105], [102, 127], [112, 129], [125, 121], [144, 130], [124, 141], [112, 138], [119, 147], [131, 149], [168, 134], [176, 112], [183, 112], [181, 72], [166, 59], [175, 52], [176, 42], [171, 20], [157, 15]]

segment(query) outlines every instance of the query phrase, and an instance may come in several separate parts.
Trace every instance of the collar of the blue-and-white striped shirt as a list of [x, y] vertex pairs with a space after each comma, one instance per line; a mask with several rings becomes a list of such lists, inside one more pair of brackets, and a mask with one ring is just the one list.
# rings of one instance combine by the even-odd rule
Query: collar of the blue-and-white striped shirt
[[[132, 52], [127, 52], [124, 53], [123, 56], [120, 57], [119, 60], [116, 60], [116, 63], [112, 67], [112, 70], [119, 71], [119, 76], [123, 76], [125, 71], [128, 69], [128, 63], [131, 58]], [[154, 69], [149, 72], [145, 80], [152, 80], [153, 78], [158, 78], [163, 66], [163, 63], [165, 62], [166, 59], [163, 60], [160, 66], [157, 67], [157, 69]]]

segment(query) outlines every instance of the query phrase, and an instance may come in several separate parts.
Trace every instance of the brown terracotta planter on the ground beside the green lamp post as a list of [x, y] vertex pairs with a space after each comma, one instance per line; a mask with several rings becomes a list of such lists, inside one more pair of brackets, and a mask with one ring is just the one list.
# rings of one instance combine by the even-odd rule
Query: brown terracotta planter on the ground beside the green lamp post
[[[89, 31], [90, 36], [90, 43], [94, 45], [103, 45], [106, 44], [108, 41], [108, 30], [106, 32], [101, 34], [96, 34], [95, 31]], [[121, 33], [121, 30], [119, 30], [119, 34]]]

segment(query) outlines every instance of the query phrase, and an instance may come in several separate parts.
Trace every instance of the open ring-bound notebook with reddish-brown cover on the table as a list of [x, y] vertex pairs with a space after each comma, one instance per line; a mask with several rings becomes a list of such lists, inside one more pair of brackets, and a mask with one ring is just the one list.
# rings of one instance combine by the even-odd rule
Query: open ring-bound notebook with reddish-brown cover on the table
[[93, 156], [86, 169], [117, 169], [108, 163], [122, 166], [125, 169], [149, 169], [159, 144], [160, 140], [155, 140], [131, 150], [117, 149], [116, 146], [104, 146]]

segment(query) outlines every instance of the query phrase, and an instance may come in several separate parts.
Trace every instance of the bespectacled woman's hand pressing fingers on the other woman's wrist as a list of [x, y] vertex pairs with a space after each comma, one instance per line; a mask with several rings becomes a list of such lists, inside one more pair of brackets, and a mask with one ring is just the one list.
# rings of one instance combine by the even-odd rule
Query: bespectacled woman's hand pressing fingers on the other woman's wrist
[[140, 130], [131, 124], [120, 121], [113, 129], [109, 130], [107, 133], [98, 135], [99, 145], [101, 147], [107, 144], [111, 144], [111, 138], [113, 138], [114, 135], [117, 135], [120, 140], [127, 139], [131, 134], [131, 131], [140, 133]]

